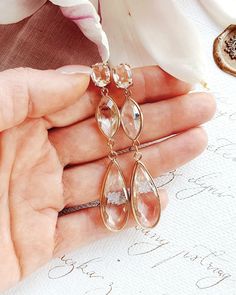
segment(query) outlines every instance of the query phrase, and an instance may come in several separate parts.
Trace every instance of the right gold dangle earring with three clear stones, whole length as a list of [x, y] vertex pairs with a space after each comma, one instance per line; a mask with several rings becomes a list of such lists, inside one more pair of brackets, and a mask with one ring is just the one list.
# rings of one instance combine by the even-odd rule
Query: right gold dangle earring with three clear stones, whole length
[[154, 180], [141, 162], [139, 136], [143, 129], [143, 114], [137, 102], [131, 97], [129, 87], [133, 84], [132, 71], [129, 65], [120, 64], [113, 68], [113, 79], [118, 88], [123, 88], [125, 103], [121, 109], [121, 124], [125, 134], [132, 140], [134, 152], [134, 168], [131, 177], [131, 207], [137, 223], [144, 228], [157, 225], [161, 205]]

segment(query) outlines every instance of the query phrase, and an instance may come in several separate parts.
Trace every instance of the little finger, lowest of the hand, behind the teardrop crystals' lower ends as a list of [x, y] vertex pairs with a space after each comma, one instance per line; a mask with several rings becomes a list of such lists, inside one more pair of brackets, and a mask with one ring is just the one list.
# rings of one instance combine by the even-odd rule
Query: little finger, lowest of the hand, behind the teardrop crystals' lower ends
[[[161, 209], [164, 210], [168, 203], [166, 191], [160, 190], [159, 196]], [[127, 228], [134, 225], [134, 218], [131, 215]], [[108, 235], [111, 235], [111, 232], [104, 226], [98, 207], [59, 217], [54, 256], [58, 257]]]

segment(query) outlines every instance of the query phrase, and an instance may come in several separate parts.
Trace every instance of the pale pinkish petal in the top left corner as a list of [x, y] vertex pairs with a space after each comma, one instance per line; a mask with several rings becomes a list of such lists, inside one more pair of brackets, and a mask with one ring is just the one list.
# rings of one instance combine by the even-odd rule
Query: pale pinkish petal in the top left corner
[[0, 0], [0, 24], [11, 24], [32, 15], [47, 0]]

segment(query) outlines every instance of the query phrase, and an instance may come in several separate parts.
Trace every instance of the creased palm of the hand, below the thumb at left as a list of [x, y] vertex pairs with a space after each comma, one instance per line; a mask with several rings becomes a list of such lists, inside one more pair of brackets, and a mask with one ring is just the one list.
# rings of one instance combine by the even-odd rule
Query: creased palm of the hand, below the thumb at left
[[[0, 200], [6, 281], [18, 281], [53, 257], [63, 208], [63, 166], [43, 119], [29, 119], [1, 135], [5, 191]], [[6, 270], [8, 270], [6, 272]]]

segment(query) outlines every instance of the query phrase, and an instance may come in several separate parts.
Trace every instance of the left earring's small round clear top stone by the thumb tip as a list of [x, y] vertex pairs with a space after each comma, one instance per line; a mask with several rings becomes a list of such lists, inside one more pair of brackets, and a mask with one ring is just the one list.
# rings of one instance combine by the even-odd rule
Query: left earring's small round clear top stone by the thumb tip
[[105, 87], [111, 81], [111, 71], [107, 64], [97, 63], [92, 66], [91, 78], [98, 87]]

